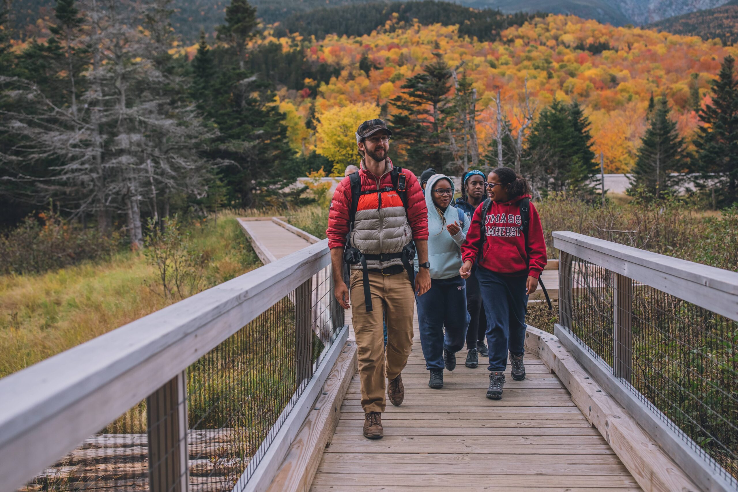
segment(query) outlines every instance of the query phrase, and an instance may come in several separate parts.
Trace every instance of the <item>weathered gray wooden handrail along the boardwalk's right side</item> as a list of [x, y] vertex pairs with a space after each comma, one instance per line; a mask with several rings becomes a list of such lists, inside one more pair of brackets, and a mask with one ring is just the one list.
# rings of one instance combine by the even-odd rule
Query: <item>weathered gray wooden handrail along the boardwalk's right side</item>
[[[569, 231], [554, 247], [644, 285], [738, 320], [738, 273]], [[560, 266], [559, 266], [560, 268]]]

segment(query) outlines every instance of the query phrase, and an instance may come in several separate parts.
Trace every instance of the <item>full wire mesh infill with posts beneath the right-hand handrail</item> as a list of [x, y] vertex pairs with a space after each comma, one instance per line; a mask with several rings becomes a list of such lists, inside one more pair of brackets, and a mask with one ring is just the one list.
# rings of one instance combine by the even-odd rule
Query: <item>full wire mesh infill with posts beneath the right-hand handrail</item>
[[561, 252], [559, 321], [738, 488], [738, 323]]

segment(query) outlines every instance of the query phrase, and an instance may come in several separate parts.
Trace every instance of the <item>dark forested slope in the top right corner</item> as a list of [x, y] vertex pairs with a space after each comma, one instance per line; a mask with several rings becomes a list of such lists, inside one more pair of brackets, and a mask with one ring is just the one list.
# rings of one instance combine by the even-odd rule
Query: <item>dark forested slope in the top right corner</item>
[[723, 7], [666, 18], [646, 27], [706, 40], [720, 39], [725, 45], [735, 44], [738, 41], [738, 0], [729, 1]]

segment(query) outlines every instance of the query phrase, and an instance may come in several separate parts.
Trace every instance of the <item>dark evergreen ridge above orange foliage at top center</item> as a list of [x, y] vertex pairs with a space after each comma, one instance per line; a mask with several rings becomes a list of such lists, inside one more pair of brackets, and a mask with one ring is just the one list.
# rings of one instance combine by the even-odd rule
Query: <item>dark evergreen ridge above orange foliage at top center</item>
[[[363, 5], [344, 5], [341, 7], [321, 7], [306, 13], [290, 15], [275, 30], [277, 37], [288, 32], [300, 32], [303, 36], [325, 35], [362, 36], [371, 34], [383, 26], [393, 15], [398, 22], [412, 22], [418, 19], [421, 24], [459, 25], [459, 35], [476, 37], [479, 41], [497, 41], [500, 32], [512, 26], [522, 26], [525, 22], [541, 16], [540, 13], [503, 14], [499, 10], [476, 10], [446, 1], [394, 1], [391, 4], [374, 2]], [[397, 24], [393, 23], [393, 27]]]

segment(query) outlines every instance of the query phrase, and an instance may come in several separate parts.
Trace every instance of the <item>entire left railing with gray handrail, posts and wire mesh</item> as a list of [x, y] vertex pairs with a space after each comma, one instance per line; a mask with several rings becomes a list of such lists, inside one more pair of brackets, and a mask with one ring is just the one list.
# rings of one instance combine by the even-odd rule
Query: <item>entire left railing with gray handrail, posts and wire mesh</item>
[[[314, 302], [317, 291], [320, 302]], [[343, 310], [331, 299], [323, 240], [1, 379], [0, 490], [61, 490], [71, 479], [83, 484], [76, 488], [96, 488], [120, 477], [128, 477], [126, 490], [187, 491], [192, 483], [199, 490], [263, 490], [348, 335]], [[268, 352], [279, 344], [290, 350]], [[249, 364], [255, 361], [271, 369], [254, 375]], [[188, 385], [210, 406], [194, 408]], [[267, 403], [258, 403], [262, 399]], [[269, 408], [254, 413], [258, 404]], [[144, 407], [139, 432], [96, 434]], [[188, 414], [197, 421], [188, 422]], [[268, 423], [264, 432], [239, 429], [252, 425], [253, 415]], [[123, 447], [104, 451], [117, 441]], [[116, 453], [128, 462], [142, 453], [148, 471], [139, 477], [130, 463], [115, 468], [106, 457], [114, 460]], [[193, 459], [196, 453], [204, 459]], [[27, 485], [46, 467], [52, 467], [48, 482]], [[103, 481], [95, 486], [85, 475], [92, 469]], [[227, 475], [234, 470], [235, 477]], [[215, 475], [220, 482], [211, 487]], [[66, 485], [55, 485], [59, 477]]]

